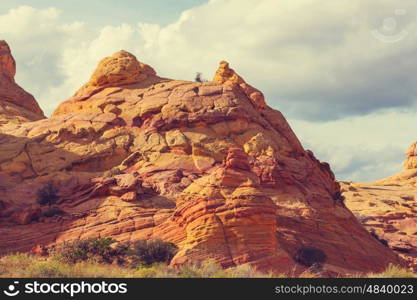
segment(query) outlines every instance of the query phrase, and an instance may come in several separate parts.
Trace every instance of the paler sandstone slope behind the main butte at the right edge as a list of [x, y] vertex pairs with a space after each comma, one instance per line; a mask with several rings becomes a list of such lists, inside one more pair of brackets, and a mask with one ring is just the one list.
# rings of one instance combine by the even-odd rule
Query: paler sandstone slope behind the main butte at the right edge
[[343, 182], [346, 205], [358, 220], [417, 271], [417, 143], [404, 170], [368, 183]]

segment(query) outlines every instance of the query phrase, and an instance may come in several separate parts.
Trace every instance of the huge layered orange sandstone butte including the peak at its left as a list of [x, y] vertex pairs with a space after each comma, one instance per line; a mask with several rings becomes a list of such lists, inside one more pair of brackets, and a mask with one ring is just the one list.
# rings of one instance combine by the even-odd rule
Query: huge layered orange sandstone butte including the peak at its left
[[[345, 207], [329, 165], [228, 63], [210, 82], [171, 80], [120, 51], [46, 119], [2, 49], [1, 100], [15, 109], [2, 115], [19, 122], [0, 127], [0, 253], [159, 238], [179, 247], [172, 265], [211, 258], [303, 272], [294, 258], [304, 247], [324, 252], [330, 273], [403, 263]], [[37, 193], [48, 182], [64, 215], [42, 215]]]

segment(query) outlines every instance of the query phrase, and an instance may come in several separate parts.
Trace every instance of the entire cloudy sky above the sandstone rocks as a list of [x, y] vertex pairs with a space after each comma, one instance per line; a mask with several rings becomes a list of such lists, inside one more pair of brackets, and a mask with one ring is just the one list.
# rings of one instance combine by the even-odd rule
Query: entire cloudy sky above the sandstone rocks
[[417, 140], [415, 0], [1, 0], [0, 39], [47, 114], [125, 49], [176, 79], [228, 60], [340, 180], [400, 171]]

